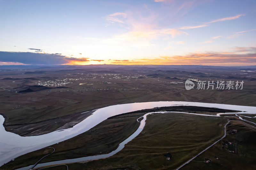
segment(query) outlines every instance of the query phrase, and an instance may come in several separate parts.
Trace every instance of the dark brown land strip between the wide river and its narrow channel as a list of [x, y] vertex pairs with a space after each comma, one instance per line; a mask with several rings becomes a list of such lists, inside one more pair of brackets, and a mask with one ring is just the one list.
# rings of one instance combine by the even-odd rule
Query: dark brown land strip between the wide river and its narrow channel
[[[51, 145], [51, 147], [55, 148], [55, 152], [45, 157], [43, 160], [40, 161], [40, 163], [109, 153], [115, 150], [118, 147], [119, 143], [124, 141], [124, 139], [129, 137], [135, 130], [137, 130], [137, 128], [140, 125], [140, 123], [137, 122], [137, 118], [141, 117], [145, 113], [152, 112], [152, 111], [154, 112], [181, 111], [181, 112], [191, 112], [191, 113], [199, 113], [199, 114], [202, 113], [202, 114], [211, 114], [211, 115], [213, 113], [220, 113], [220, 112], [221, 113], [235, 112], [234, 110], [224, 110], [224, 109], [207, 108], [207, 107], [172, 106], [172, 107], [159, 107], [154, 109], [144, 109], [140, 111], [134, 111], [134, 112], [129, 112], [121, 115], [116, 115], [116, 116], [110, 117], [109, 119], [101, 122], [100, 124], [96, 125], [92, 129], [76, 137], [65, 140], [58, 144]], [[162, 114], [156, 114], [156, 116], [160, 116], [160, 118], [163, 118]], [[183, 118], [184, 116], [185, 116], [184, 114], [170, 113], [170, 114], [166, 114], [164, 119], [166, 119], [165, 121], [170, 121], [170, 119], [174, 118], [171, 122], [173, 123], [174, 121], [176, 121], [176, 119]], [[194, 116], [194, 117], [192, 116], [193, 118], [192, 120], [195, 120], [197, 117], [198, 116]], [[157, 119], [157, 121], [158, 120], [160, 119]], [[165, 131], [163, 132], [164, 132], [163, 135], [165, 135]], [[38, 151], [30, 152], [2, 166], [2, 168], [11, 170], [11, 169], [19, 168], [22, 166], [32, 165], [36, 163], [35, 159], [37, 160], [40, 159], [40, 155], [41, 157], [44, 156], [41, 152], [38, 152]]]

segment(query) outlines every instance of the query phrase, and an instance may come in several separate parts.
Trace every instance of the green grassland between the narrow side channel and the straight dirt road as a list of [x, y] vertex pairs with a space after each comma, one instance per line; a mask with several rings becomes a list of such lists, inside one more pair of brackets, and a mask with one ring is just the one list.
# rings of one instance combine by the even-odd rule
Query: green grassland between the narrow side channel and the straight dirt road
[[[143, 131], [117, 154], [86, 163], [79, 169], [174, 169], [223, 136], [226, 118], [178, 113], [149, 115]], [[172, 154], [168, 161], [164, 154]]]

